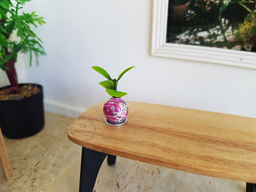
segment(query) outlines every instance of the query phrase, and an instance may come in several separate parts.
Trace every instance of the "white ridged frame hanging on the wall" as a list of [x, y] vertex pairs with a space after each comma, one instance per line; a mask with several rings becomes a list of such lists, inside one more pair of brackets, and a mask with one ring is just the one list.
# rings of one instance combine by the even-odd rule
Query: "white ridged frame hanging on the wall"
[[166, 43], [168, 0], [153, 0], [151, 55], [256, 69], [256, 53]]

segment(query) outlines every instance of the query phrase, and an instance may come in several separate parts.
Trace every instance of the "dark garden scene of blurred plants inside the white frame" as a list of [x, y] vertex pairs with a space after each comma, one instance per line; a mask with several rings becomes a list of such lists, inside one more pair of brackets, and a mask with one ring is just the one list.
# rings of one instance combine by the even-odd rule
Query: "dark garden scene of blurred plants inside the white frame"
[[256, 0], [191, 0], [181, 22], [169, 14], [166, 42], [253, 51], [243, 46], [256, 44], [255, 5]]

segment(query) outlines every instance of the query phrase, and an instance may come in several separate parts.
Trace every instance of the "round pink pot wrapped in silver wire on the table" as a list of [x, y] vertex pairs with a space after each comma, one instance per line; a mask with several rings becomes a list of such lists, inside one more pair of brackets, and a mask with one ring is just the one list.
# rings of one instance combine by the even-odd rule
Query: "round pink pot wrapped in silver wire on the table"
[[122, 98], [111, 97], [103, 106], [105, 123], [120, 126], [127, 122], [128, 104]]

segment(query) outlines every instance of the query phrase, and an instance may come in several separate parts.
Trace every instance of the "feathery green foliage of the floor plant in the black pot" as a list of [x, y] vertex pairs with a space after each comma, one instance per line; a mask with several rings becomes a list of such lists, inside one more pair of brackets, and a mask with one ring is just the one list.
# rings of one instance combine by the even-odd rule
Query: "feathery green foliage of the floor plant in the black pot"
[[[17, 53], [30, 53], [30, 66], [34, 53], [38, 65], [39, 55], [46, 55], [41, 43], [42, 40], [31, 29], [31, 26], [45, 24], [44, 18], [35, 12], [19, 14], [26, 2], [31, 0], [1, 0], [0, 2], [0, 68], [7, 70], [4, 63], [13, 58], [17, 59]], [[17, 41], [12, 40], [16, 33]], [[7, 51], [8, 50], [8, 51]]]

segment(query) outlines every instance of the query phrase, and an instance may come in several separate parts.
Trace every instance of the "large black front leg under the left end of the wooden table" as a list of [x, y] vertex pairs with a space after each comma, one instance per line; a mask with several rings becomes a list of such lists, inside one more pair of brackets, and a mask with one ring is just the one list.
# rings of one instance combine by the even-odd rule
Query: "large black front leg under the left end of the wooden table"
[[107, 154], [82, 147], [79, 192], [92, 192], [102, 162]]

